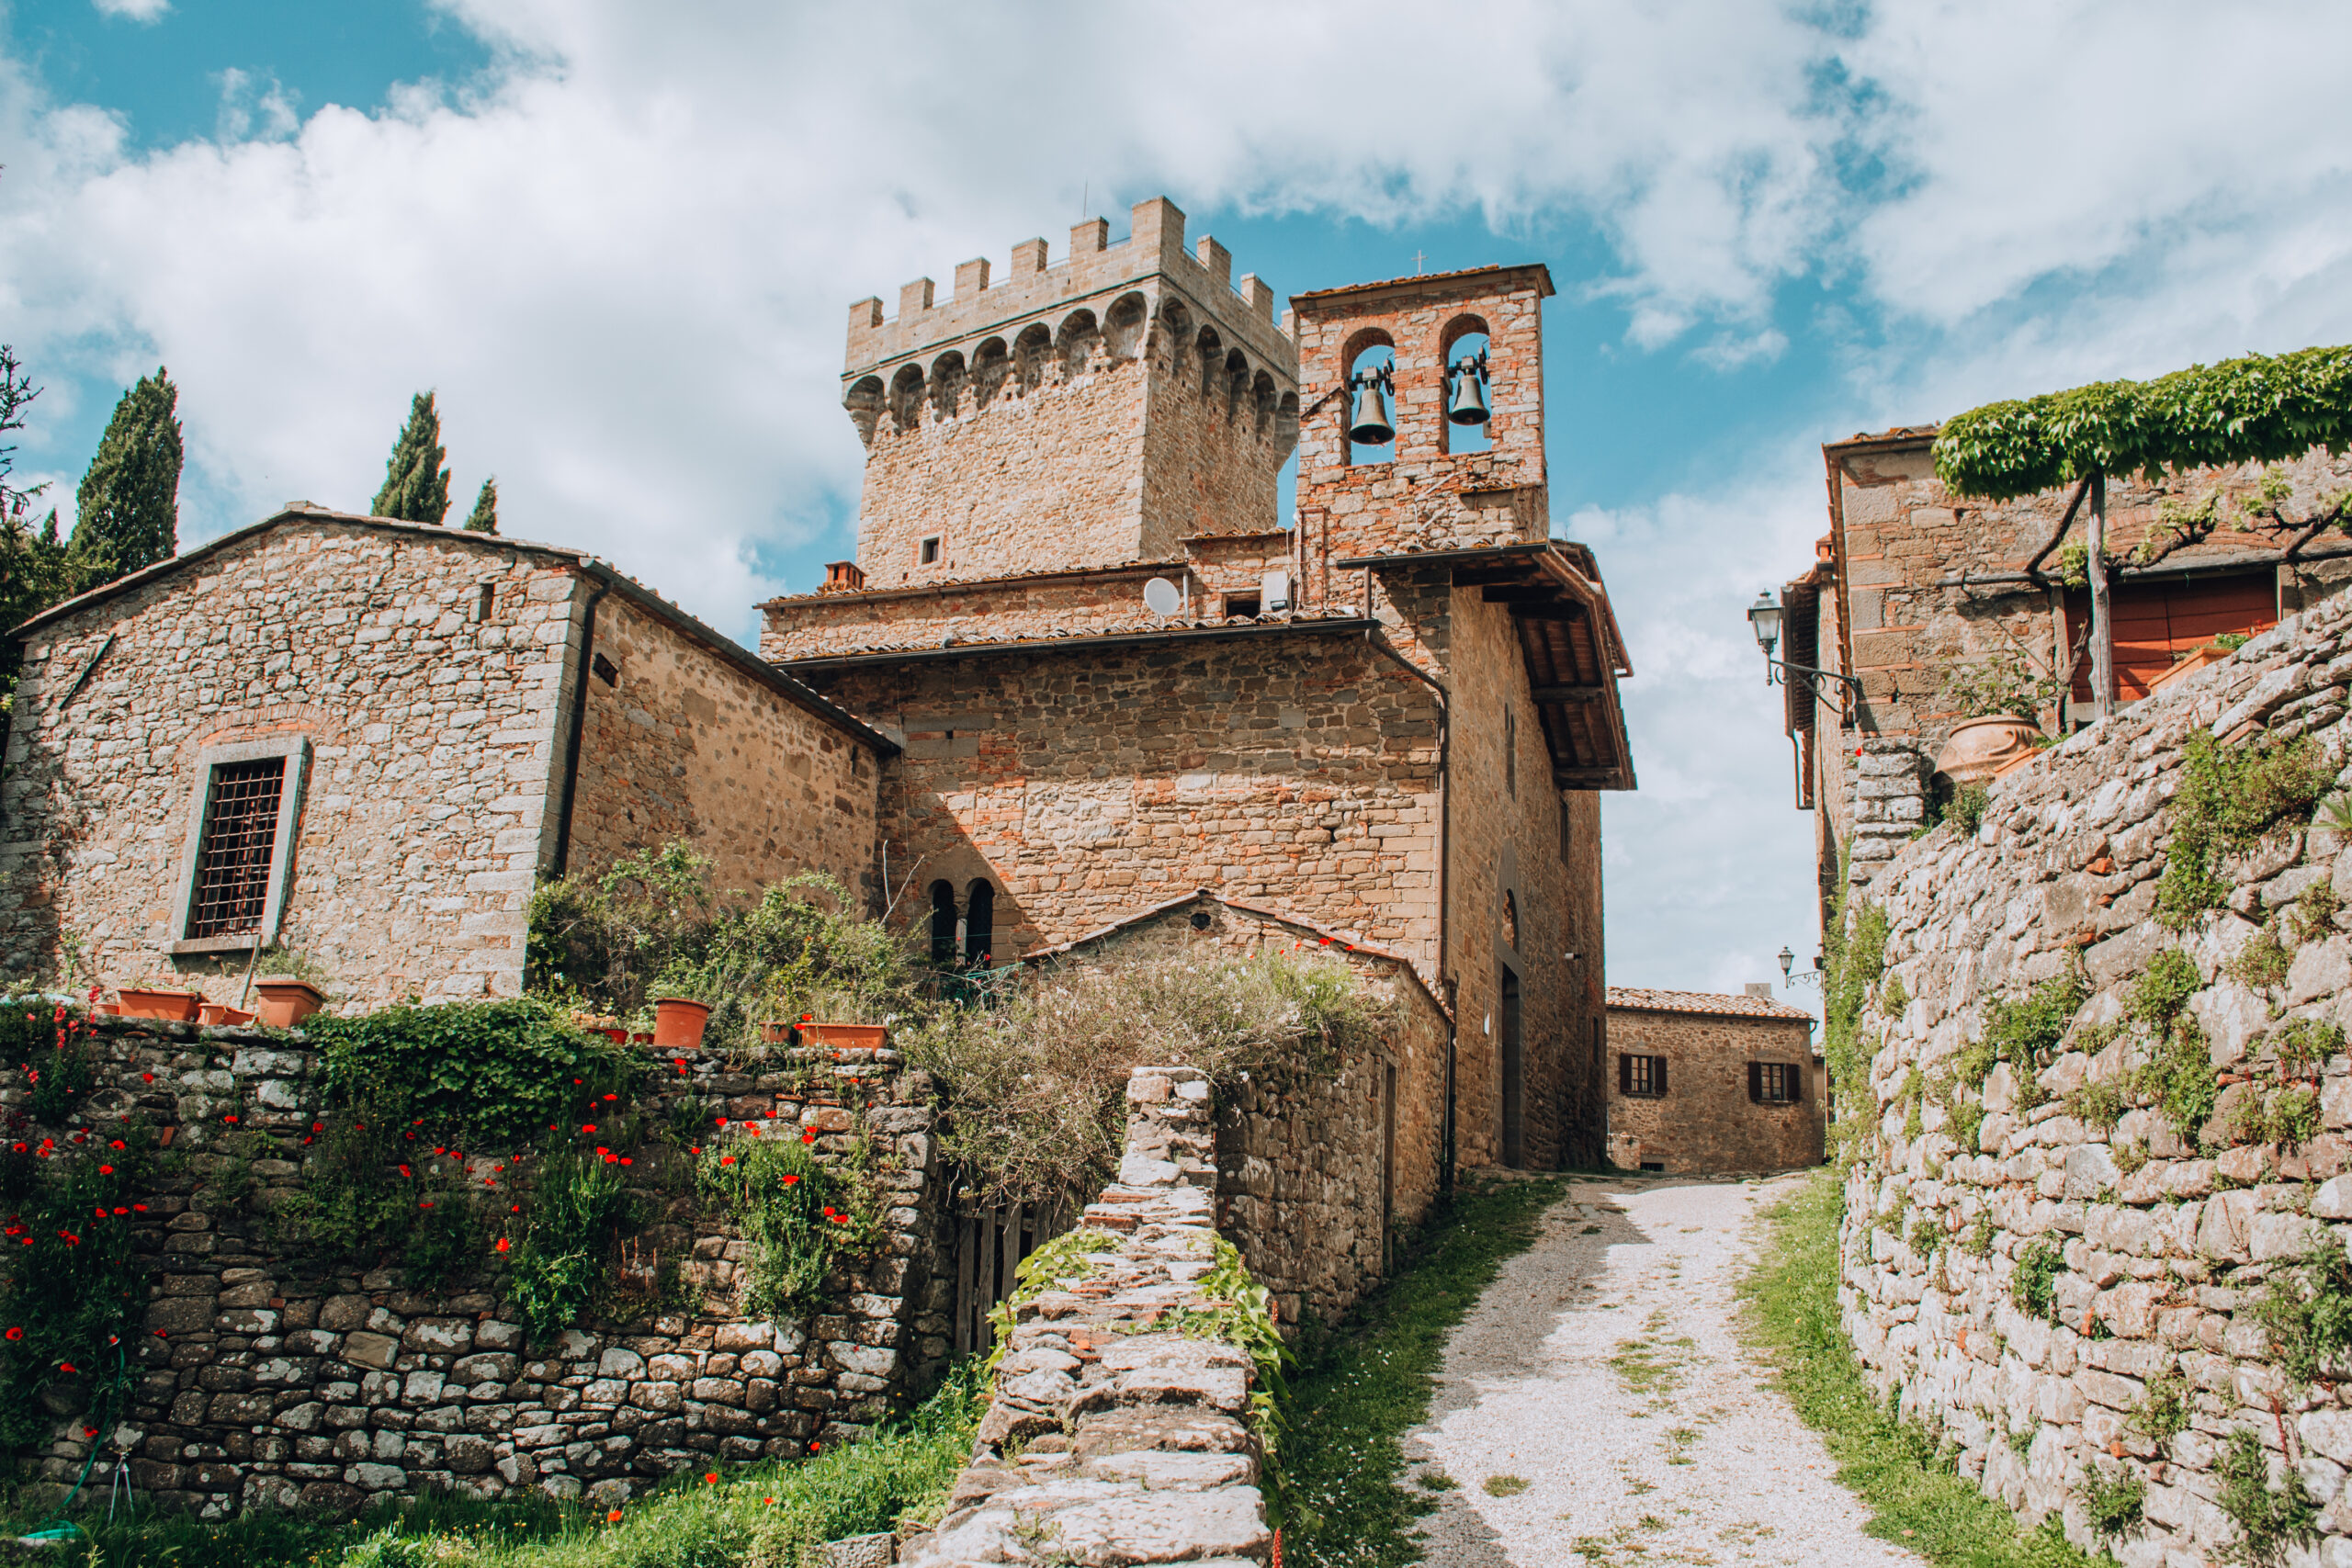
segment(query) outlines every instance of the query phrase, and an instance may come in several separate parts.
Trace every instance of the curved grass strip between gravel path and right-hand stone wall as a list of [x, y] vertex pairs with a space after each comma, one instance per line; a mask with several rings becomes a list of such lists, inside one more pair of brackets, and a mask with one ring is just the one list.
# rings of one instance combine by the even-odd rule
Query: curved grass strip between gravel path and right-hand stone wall
[[1776, 1385], [1804, 1425], [1820, 1432], [1837, 1479], [1870, 1507], [1867, 1530], [1900, 1542], [1940, 1568], [2082, 1568], [2091, 1559], [2056, 1526], [2020, 1533], [2016, 1516], [1976, 1483], [1936, 1462], [1917, 1427], [1886, 1420], [1870, 1396], [1853, 1345], [1837, 1326], [1835, 1171], [1785, 1190], [1764, 1215], [1769, 1244], [1740, 1295], [1750, 1340], [1778, 1368]]

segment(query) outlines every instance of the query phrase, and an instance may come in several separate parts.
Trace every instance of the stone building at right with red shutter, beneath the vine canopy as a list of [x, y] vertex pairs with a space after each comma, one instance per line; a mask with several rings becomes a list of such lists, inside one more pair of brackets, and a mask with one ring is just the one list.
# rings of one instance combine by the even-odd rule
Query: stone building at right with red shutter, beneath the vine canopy
[[[1830, 531], [1780, 595], [1778, 656], [1860, 682], [1858, 693], [1790, 684], [1785, 696], [1797, 809], [1818, 811], [1825, 919], [1839, 856], [1870, 882], [1933, 811], [1936, 752], [1973, 717], [1955, 682], [2002, 670], [2037, 684], [2053, 736], [2086, 722], [2096, 698], [2084, 489], [1952, 496], [1933, 444], [1936, 425], [1825, 444]], [[2267, 512], [2249, 510], [2263, 501], [2260, 465], [2110, 477], [2112, 701], [2143, 701], [2192, 649], [2267, 630], [2352, 576], [2352, 541], [2298, 522], [2352, 482], [2352, 458], [2312, 449], [2274, 470], [2293, 494]]]

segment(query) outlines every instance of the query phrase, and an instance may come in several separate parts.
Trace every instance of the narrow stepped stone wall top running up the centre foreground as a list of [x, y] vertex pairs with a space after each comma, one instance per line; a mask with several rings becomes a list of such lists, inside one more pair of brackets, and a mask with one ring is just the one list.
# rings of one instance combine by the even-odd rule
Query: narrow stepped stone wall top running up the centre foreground
[[1223, 1338], [1157, 1326], [1214, 1267], [1216, 1138], [1204, 1074], [1127, 1081], [1120, 1180], [1084, 1225], [1117, 1251], [1044, 1281], [1014, 1321], [971, 1465], [901, 1561], [1263, 1563], [1272, 1556], [1249, 1427], [1256, 1368]]

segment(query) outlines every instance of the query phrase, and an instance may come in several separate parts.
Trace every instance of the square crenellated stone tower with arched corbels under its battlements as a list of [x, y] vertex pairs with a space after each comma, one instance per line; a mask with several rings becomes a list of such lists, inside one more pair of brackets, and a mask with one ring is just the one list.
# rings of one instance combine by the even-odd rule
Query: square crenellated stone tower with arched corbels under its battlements
[[1183, 242], [1167, 197], [1134, 233], [1070, 230], [849, 308], [844, 407], [866, 442], [858, 567], [873, 588], [1181, 559], [1178, 541], [1275, 524], [1298, 440], [1298, 350], [1258, 277]]

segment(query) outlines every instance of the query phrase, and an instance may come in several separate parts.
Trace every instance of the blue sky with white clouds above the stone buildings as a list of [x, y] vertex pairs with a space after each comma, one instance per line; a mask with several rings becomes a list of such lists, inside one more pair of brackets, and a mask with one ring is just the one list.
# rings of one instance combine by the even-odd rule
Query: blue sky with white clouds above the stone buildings
[[1736, 987], [1813, 950], [1740, 609], [1811, 559], [1820, 442], [2352, 339], [2347, 33], [2164, 0], [1444, 28], [1392, 0], [19, 0], [0, 341], [47, 386], [19, 468], [71, 501], [167, 362], [200, 541], [365, 505], [433, 386], [466, 498], [494, 470], [508, 531], [748, 639], [849, 552], [856, 296], [1037, 233], [1058, 259], [1082, 193], [1115, 233], [1171, 195], [1282, 294], [1545, 261], [1555, 531], [1599, 550], [1639, 668], [1609, 971]]

